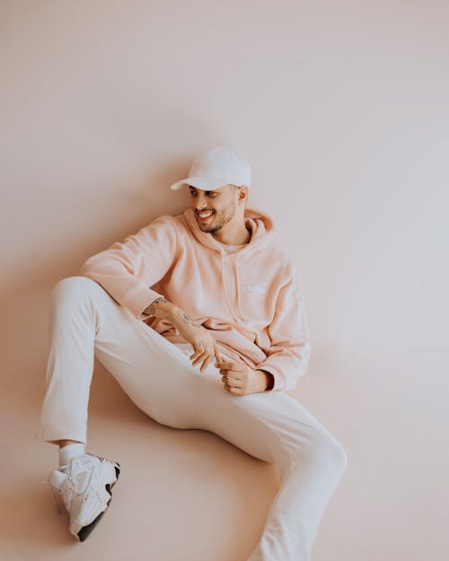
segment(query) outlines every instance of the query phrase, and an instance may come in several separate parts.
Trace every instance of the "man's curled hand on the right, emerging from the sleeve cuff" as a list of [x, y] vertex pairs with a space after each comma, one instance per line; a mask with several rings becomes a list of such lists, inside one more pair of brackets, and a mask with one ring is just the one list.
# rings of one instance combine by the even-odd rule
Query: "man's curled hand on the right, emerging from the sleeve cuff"
[[261, 393], [269, 388], [271, 374], [254, 370], [247, 364], [217, 361], [215, 366], [220, 369], [225, 390], [229, 393], [245, 396], [250, 393]]

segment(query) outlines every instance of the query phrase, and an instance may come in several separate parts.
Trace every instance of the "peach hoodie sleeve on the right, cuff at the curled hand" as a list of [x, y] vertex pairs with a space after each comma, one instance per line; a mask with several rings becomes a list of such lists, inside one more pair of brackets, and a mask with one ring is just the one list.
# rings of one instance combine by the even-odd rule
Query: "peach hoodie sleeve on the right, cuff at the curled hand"
[[274, 377], [269, 391], [295, 388], [309, 363], [310, 337], [305, 317], [303, 291], [298, 268], [277, 295], [275, 316], [269, 325], [271, 346], [265, 361], [256, 370], [265, 370]]

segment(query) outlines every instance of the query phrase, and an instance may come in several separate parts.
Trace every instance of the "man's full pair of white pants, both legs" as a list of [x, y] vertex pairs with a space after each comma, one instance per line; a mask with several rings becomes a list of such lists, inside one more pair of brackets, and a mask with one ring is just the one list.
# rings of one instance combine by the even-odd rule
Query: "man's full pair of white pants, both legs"
[[274, 463], [281, 485], [248, 561], [309, 561], [348, 458], [332, 434], [282, 391], [236, 396], [214, 364], [199, 372], [174, 345], [84, 276], [62, 279], [50, 302], [47, 393], [36, 438], [85, 443], [94, 354], [138, 408], [163, 425], [211, 431]]

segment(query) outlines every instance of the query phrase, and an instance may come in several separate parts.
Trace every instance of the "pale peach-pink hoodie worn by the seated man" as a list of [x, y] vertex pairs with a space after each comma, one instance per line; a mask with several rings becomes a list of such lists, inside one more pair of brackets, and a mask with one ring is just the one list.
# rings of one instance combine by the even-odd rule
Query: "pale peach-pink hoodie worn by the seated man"
[[143, 313], [163, 296], [208, 329], [226, 355], [273, 374], [271, 391], [289, 390], [310, 355], [298, 267], [275, 245], [268, 215], [247, 208], [245, 223], [251, 241], [229, 252], [201, 231], [191, 208], [163, 215], [87, 259], [80, 275], [163, 337], [186, 342], [170, 321]]

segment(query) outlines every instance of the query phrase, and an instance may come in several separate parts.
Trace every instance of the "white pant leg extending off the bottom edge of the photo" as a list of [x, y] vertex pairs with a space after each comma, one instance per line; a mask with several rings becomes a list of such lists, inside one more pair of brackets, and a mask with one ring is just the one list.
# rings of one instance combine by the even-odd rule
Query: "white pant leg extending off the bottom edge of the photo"
[[248, 561], [310, 561], [322, 516], [348, 457], [336, 438], [285, 392], [235, 396], [216, 368], [201, 373], [199, 428], [274, 463], [281, 484]]

